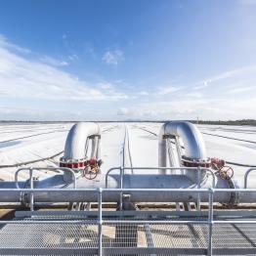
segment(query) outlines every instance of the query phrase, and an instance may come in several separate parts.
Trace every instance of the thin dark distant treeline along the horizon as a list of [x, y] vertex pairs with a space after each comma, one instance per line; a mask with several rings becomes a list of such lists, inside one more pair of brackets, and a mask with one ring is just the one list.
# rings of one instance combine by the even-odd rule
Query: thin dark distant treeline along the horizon
[[[108, 122], [150, 122], [150, 123], [163, 123], [169, 120], [119, 120], [119, 121], [99, 121], [99, 120], [84, 120], [85, 122], [100, 122], [100, 123], [108, 123]], [[192, 123], [198, 123], [198, 124], [213, 124], [213, 125], [251, 125], [256, 126], [256, 120], [255, 119], [240, 119], [240, 120], [217, 120], [217, 121], [211, 121], [211, 120], [184, 120], [184, 121], [190, 121]], [[74, 123], [78, 121], [16, 121], [16, 120], [0, 120], [0, 123], [3, 124], [15, 124], [15, 123]]]

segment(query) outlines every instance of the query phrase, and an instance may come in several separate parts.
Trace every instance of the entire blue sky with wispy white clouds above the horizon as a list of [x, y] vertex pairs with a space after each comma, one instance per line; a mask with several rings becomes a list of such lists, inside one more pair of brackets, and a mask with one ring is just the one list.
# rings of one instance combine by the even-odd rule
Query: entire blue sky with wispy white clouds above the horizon
[[255, 0], [0, 0], [0, 119], [256, 118], [255, 27]]

